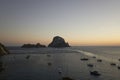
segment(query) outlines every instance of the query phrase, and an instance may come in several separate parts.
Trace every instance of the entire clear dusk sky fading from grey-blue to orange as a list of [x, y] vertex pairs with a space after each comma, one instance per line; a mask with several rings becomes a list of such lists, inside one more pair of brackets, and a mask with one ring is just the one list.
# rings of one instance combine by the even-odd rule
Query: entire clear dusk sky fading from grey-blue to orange
[[120, 0], [0, 0], [0, 42], [120, 45]]

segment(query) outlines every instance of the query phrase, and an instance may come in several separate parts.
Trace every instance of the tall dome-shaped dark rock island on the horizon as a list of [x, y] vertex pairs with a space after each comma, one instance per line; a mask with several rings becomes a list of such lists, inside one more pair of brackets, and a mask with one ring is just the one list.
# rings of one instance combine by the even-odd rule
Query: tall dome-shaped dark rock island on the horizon
[[53, 41], [48, 45], [48, 47], [54, 47], [54, 48], [62, 48], [62, 47], [70, 47], [65, 40], [60, 36], [55, 36], [53, 38]]

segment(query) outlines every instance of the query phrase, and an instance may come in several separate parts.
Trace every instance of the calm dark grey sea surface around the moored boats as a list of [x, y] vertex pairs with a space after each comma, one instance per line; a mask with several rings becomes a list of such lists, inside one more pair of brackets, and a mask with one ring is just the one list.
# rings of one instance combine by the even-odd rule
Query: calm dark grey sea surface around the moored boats
[[[119, 46], [8, 49], [11, 54], [0, 58], [4, 67], [0, 71], [0, 80], [62, 80], [62, 77], [74, 80], [120, 80]], [[88, 64], [93, 64], [93, 67]], [[98, 71], [101, 75], [91, 75], [90, 71]]]

